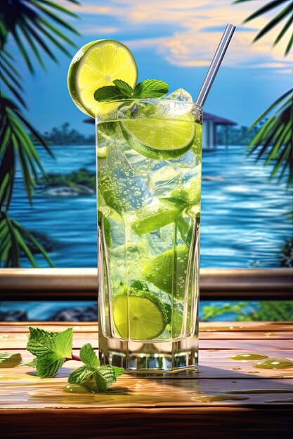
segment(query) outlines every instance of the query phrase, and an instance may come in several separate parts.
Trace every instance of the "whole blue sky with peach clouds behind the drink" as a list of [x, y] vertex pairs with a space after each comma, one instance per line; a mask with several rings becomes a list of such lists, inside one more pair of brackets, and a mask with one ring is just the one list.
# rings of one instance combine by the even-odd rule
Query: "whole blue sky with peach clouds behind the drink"
[[[246, 25], [247, 16], [263, 1], [232, 4], [229, 0], [81, 0], [80, 5], [56, 0], [79, 16], [67, 18], [81, 34], [73, 36], [76, 50], [96, 39], [116, 39], [134, 53], [139, 81], [162, 79], [169, 90], [185, 88], [196, 97], [227, 22], [237, 26], [204, 110], [249, 126], [275, 99], [292, 86], [292, 53], [284, 57], [284, 37], [272, 48], [277, 26], [252, 44], [256, 33], [275, 13]], [[288, 32], [289, 33], [289, 32]], [[287, 34], [288, 35], [288, 34]], [[92, 126], [73, 104], [67, 91], [70, 59], [56, 51], [58, 65], [44, 55], [46, 71], [34, 63], [32, 76], [13, 41], [8, 50], [18, 60], [24, 76], [27, 117], [41, 132], [65, 121], [84, 134]]]

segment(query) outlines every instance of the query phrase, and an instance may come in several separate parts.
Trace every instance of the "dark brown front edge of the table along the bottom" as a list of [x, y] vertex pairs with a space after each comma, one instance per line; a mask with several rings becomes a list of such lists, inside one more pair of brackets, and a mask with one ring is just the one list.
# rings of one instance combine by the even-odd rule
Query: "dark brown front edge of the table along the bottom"
[[[292, 433], [292, 410], [266, 407], [39, 409], [0, 412], [5, 438], [22, 439], [285, 439]], [[15, 422], [18, 419], [18, 422]], [[249, 419], [249, 421], [247, 421]]]

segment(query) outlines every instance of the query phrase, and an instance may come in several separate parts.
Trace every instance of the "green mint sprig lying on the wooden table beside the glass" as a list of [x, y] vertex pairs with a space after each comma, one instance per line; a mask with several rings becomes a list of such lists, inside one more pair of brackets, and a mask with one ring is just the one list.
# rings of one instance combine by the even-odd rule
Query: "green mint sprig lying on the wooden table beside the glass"
[[[100, 360], [90, 343], [84, 344], [79, 356], [72, 353], [72, 327], [63, 332], [48, 332], [37, 327], [29, 327], [30, 337], [27, 342], [27, 351], [35, 358], [25, 366], [35, 367], [37, 377], [47, 378], [57, 374], [60, 367], [69, 360], [77, 360], [84, 365], [73, 370], [68, 377], [70, 384], [91, 384], [93, 391], [107, 391], [123, 372], [122, 367], [100, 365]], [[20, 354], [17, 355], [20, 363]], [[11, 354], [5, 353], [1, 361], [7, 361]], [[9, 365], [7, 365], [9, 367]]]

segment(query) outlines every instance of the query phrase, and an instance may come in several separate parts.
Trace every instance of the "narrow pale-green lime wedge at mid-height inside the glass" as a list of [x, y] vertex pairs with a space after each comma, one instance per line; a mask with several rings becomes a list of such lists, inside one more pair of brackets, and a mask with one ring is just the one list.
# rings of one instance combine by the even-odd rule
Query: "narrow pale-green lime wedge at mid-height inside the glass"
[[136, 218], [131, 223], [131, 228], [138, 235], [148, 234], [175, 222], [180, 212], [180, 207], [170, 206], [167, 203], [144, 206], [136, 211]]

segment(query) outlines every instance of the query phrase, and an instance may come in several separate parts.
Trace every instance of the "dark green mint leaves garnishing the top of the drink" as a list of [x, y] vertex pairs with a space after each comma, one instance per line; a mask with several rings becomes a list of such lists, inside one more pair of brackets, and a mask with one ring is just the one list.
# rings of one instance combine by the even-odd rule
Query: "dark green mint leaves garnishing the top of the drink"
[[105, 102], [109, 100], [156, 98], [166, 95], [169, 91], [168, 84], [158, 79], [146, 79], [138, 83], [135, 88], [129, 86], [122, 79], [115, 79], [113, 83], [115, 83], [115, 86], [98, 88], [93, 95], [95, 100]]

